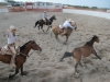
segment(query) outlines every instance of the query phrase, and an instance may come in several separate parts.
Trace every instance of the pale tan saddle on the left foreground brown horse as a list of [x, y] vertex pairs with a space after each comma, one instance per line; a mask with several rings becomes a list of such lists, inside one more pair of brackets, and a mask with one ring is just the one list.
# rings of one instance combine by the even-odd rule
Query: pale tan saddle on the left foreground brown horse
[[[15, 47], [16, 52], [20, 52], [20, 48]], [[8, 47], [8, 45], [1, 47], [0, 49], [0, 54], [1, 55], [13, 55], [12, 51], [10, 50], [10, 48]]]

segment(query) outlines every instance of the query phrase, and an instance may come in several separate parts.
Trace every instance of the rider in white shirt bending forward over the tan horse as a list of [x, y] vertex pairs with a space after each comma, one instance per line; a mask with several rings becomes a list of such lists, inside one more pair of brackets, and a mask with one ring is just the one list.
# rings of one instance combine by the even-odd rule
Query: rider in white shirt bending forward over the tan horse
[[61, 34], [62, 36], [65, 35], [67, 33], [67, 27], [70, 27], [70, 28], [75, 28], [73, 25], [72, 25], [72, 19], [65, 21], [65, 23], [63, 24], [63, 28], [64, 28], [64, 32]]

